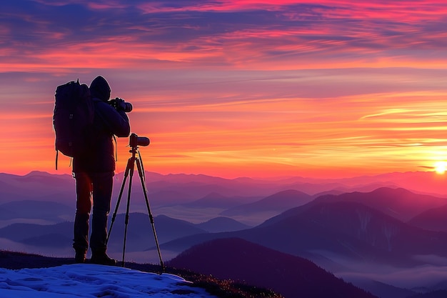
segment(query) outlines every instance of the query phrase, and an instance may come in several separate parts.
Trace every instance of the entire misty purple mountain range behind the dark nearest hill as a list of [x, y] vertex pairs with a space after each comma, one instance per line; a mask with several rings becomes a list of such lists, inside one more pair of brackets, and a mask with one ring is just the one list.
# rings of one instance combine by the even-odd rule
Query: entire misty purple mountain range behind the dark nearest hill
[[[116, 176], [113, 203], [121, 179], [120, 174]], [[416, 185], [417, 179], [428, 187]], [[241, 249], [254, 246], [266, 253], [266, 260], [292, 257], [288, 262], [294, 263], [306, 258], [326, 273], [346, 277], [381, 298], [447, 289], [447, 196], [437, 188], [441, 177], [433, 173], [353, 179], [221, 179], [146, 173], [146, 181], [161, 252], [173, 261], [185, 258], [197, 245], [224, 246], [228, 241]], [[412, 188], [403, 188], [410, 182]], [[138, 258], [153, 250], [155, 243], [141, 187], [134, 184], [126, 252]], [[0, 174], [0, 185], [2, 243], [20, 244], [19, 250], [72, 254], [75, 198], [71, 176]], [[123, 249], [124, 227], [121, 208], [109, 239], [112, 254]], [[226, 255], [216, 256], [230, 252], [218, 247], [213, 246], [211, 252], [224, 259]], [[186, 255], [194, 261], [193, 254]], [[285, 270], [286, 263], [273, 262], [276, 271]], [[406, 274], [397, 277], [393, 272]], [[415, 281], [414, 276], [424, 278]]]

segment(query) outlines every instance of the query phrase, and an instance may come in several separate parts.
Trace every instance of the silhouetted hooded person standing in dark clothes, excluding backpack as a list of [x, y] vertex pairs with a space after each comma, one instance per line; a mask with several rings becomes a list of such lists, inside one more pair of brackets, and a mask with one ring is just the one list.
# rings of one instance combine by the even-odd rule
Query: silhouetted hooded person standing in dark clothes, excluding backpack
[[73, 243], [75, 262], [84, 263], [90, 247], [91, 263], [114, 265], [116, 260], [106, 254], [107, 220], [115, 171], [113, 139], [114, 135], [129, 136], [130, 124], [124, 110], [115, 109], [107, 102], [111, 89], [103, 76], [96, 76], [89, 89], [94, 101], [94, 121], [87, 136], [89, 148], [85, 153], [73, 158], [73, 173], [76, 179]]

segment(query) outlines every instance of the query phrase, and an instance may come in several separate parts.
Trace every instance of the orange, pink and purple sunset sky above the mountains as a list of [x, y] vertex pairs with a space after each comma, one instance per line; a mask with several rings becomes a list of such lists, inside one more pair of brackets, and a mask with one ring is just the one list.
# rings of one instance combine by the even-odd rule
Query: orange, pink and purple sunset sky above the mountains
[[[446, 1], [6, 0], [0, 172], [54, 169], [56, 86], [134, 105], [147, 171], [353, 177], [447, 160]], [[117, 172], [130, 157], [118, 139]]]

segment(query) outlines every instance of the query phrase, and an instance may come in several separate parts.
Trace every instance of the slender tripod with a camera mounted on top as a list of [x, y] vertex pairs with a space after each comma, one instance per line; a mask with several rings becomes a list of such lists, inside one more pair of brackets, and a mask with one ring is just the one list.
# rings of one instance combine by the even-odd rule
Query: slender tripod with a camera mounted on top
[[[129, 160], [127, 161], [126, 172], [124, 172], [123, 184], [121, 184], [121, 190], [119, 192], [118, 201], [116, 202], [115, 211], [114, 211], [114, 214], [113, 214], [112, 219], [111, 219], [111, 224], [110, 224], [109, 234], [107, 234], [106, 244], [109, 242], [111, 229], [114, 226], [116, 213], [118, 212], [119, 204], [121, 202], [121, 197], [123, 195], [124, 185], [126, 184], [126, 179], [127, 179], [127, 177], [129, 176], [129, 173], [130, 173], [129, 189], [128, 189], [128, 193], [127, 193], [126, 219], [125, 219], [124, 243], [123, 243], [123, 260], [122, 260], [123, 262], [122, 262], [122, 267], [124, 267], [124, 254], [126, 252], [127, 225], [129, 224], [129, 207], [130, 207], [130, 202], [131, 202], [132, 178], [134, 177], [134, 168], [135, 168], [135, 162], [136, 162], [136, 167], [138, 168], [139, 177], [140, 177], [140, 181], [141, 181], [141, 187], [143, 187], [144, 198], [146, 199], [146, 207], [147, 207], [147, 211], [148, 211], [148, 214], [149, 214], [149, 219], [151, 221], [152, 231], [154, 232], [155, 244], [156, 244], [157, 250], [159, 252], [161, 270], [162, 270], [162, 272], [164, 272], [165, 268], [164, 268], [163, 260], [161, 259], [161, 252], [160, 252], [160, 247], [159, 247], [159, 239], [157, 238], [157, 234], [156, 234], [156, 231], [155, 231], [155, 225], [154, 225], [154, 217], [151, 214], [151, 208], [149, 207], [149, 199], [147, 197], [147, 190], [146, 190], [146, 183], [145, 183], [145, 177], [144, 177], [143, 162], [141, 160], [141, 155], [140, 155], [140, 152], [138, 150], [138, 145], [141, 145], [141, 146], [149, 145], [149, 139], [144, 138], [144, 137], [138, 137], [138, 136], [136, 136], [136, 134], [131, 134], [130, 139], [131, 139], [131, 141], [129, 142], [129, 146], [131, 146], [131, 150], [129, 152], [132, 154], [132, 157], [129, 158]], [[142, 142], [139, 143], [139, 141], [141, 141], [141, 140], [142, 140]], [[139, 154], [139, 157], [136, 157], [136, 153], [137, 152]]]

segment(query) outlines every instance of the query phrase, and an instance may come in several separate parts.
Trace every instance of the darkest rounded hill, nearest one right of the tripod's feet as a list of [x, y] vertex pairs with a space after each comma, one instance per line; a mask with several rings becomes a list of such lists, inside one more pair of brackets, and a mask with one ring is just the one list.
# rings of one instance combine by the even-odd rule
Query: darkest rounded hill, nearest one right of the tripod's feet
[[169, 266], [267, 287], [286, 298], [373, 298], [312, 262], [243, 239], [199, 244], [172, 259]]

